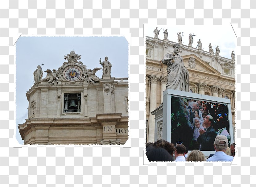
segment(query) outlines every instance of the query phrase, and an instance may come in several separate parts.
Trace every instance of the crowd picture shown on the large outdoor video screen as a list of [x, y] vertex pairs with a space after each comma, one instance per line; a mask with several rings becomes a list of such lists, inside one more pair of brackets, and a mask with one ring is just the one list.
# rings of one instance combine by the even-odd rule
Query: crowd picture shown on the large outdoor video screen
[[188, 150], [214, 151], [217, 135], [224, 135], [230, 146], [227, 105], [172, 97], [171, 142]]

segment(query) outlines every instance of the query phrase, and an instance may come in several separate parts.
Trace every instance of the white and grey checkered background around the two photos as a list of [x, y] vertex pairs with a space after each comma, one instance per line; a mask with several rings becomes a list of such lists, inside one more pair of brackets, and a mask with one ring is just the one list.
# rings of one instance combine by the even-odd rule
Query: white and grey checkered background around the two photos
[[[0, 6], [1, 186], [253, 186], [256, 184], [256, 1], [10, 0]], [[236, 164], [151, 163], [145, 147], [143, 24], [238, 24]], [[170, 24], [170, 25], [169, 25]], [[23, 36], [130, 38], [130, 137], [125, 146], [19, 146], [15, 139], [15, 47]], [[29, 55], [29, 52], [28, 52]], [[25, 94], [25, 93], [17, 93]], [[7, 101], [6, 101], [7, 100]], [[241, 126], [242, 124], [242, 126]], [[16, 146], [15, 146], [16, 145]], [[85, 185], [83, 185], [85, 184]], [[130, 184], [130, 185], [129, 185]], [[213, 184], [213, 185], [212, 185]], [[169, 186], [169, 185], [168, 185]], [[239, 185], [240, 186], [240, 185]]]

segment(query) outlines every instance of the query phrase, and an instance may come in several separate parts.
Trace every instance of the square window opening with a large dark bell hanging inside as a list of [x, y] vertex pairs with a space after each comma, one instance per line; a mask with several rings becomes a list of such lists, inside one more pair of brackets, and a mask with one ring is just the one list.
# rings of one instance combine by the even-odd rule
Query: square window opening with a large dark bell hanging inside
[[81, 112], [81, 93], [65, 93], [63, 104], [64, 113]]

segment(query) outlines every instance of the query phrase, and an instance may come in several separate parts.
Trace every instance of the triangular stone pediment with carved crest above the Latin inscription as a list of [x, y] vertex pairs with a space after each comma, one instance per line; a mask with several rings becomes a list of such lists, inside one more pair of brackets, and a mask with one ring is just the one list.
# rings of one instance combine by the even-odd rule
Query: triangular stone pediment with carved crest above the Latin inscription
[[212, 66], [210, 66], [207, 62], [204, 62], [204, 60], [200, 59], [198, 56], [194, 54], [189, 54], [182, 56], [184, 65], [189, 71], [192, 72], [198, 72], [198, 73], [210, 73], [213, 75], [220, 76], [221, 73], [214, 69]]

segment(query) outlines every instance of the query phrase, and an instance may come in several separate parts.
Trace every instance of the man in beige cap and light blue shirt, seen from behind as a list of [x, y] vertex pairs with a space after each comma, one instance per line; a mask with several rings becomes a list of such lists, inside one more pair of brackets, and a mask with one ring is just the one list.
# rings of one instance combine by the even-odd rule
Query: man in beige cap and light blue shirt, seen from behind
[[208, 158], [207, 162], [217, 162], [217, 161], [231, 162], [231, 161], [233, 161], [234, 157], [225, 154], [225, 150], [228, 148], [228, 143], [229, 143], [229, 141], [226, 136], [223, 136], [223, 135], [216, 136], [214, 143], [213, 143], [216, 153], [212, 157]]

